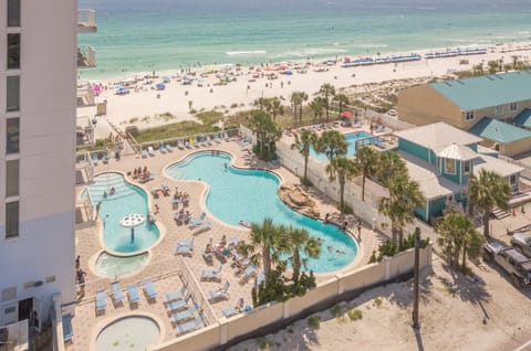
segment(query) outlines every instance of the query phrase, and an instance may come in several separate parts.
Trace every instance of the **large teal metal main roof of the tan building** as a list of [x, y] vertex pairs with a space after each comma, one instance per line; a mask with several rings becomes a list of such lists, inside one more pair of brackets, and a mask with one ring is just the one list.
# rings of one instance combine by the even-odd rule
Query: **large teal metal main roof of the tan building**
[[531, 71], [437, 82], [429, 86], [461, 110], [475, 110], [531, 99]]

